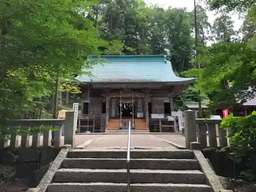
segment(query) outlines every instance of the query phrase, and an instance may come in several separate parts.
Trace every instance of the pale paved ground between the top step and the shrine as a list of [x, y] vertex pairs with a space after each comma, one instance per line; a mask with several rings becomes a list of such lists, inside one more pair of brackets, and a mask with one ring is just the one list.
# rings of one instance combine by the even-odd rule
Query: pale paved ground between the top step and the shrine
[[[78, 135], [76, 135], [78, 136]], [[82, 137], [82, 135], [79, 135]], [[89, 135], [86, 135], [88, 138]], [[87, 148], [91, 150], [97, 149], [127, 149], [127, 134], [99, 134], [99, 137], [83, 141], [80, 144], [79, 148]], [[169, 137], [177, 138], [183, 137], [181, 135], [176, 134], [168, 134]], [[77, 139], [77, 138], [76, 138]], [[165, 138], [161, 138], [160, 136], [156, 136], [155, 134], [132, 134], [131, 135], [131, 148], [134, 149], [157, 149], [157, 150], [176, 150], [177, 148], [162, 140]], [[172, 140], [172, 139], [171, 139]], [[182, 142], [181, 142], [182, 143]]]

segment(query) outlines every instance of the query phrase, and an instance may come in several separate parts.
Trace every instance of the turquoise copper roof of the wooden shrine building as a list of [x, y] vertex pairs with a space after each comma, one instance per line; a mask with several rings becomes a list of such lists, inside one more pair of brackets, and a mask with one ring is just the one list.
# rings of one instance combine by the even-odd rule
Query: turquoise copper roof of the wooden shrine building
[[[103, 55], [89, 71], [93, 77], [80, 75], [80, 82], [166, 82], [194, 83], [195, 78], [177, 77], [164, 55]], [[93, 56], [91, 60], [97, 60]]]

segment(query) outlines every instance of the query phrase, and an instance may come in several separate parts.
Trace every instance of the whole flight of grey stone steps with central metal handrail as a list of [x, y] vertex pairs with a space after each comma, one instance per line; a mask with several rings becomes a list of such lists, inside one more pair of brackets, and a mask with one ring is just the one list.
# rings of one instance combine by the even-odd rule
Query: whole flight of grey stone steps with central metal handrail
[[[71, 150], [48, 192], [127, 191], [126, 150]], [[213, 192], [189, 150], [131, 151], [131, 192]]]

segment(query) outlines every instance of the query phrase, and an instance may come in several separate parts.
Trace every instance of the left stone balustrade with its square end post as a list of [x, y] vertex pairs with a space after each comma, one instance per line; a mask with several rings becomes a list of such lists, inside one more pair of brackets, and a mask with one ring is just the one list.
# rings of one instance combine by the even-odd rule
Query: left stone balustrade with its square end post
[[[71, 145], [74, 147], [74, 136], [76, 131], [76, 118], [73, 111], [66, 112], [65, 119], [22, 119], [22, 120], [8, 120], [5, 122], [8, 129], [18, 127], [24, 134], [17, 135], [15, 131], [10, 132], [11, 135], [1, 133], [0, 148], [4, 147], [47, 147], [51, 146], [52, 132], [47, 127], [53, 127], [54, 138], [53, 146], [60, 147], [61, 145]], [[46, 127], [45, 131], [36, 132], [30, 136], [28, 133], [30, 129], [35, 127]], [[8, 132], [9, 133], [9, 132]], [[63, 135], [62, 135], [63, 133]], [[4, 139], [5, 137], [5, 139]], [[9, 137], [9, 139], [7, 139]], [[32, 137], [32, 138], [31, 138]]]

